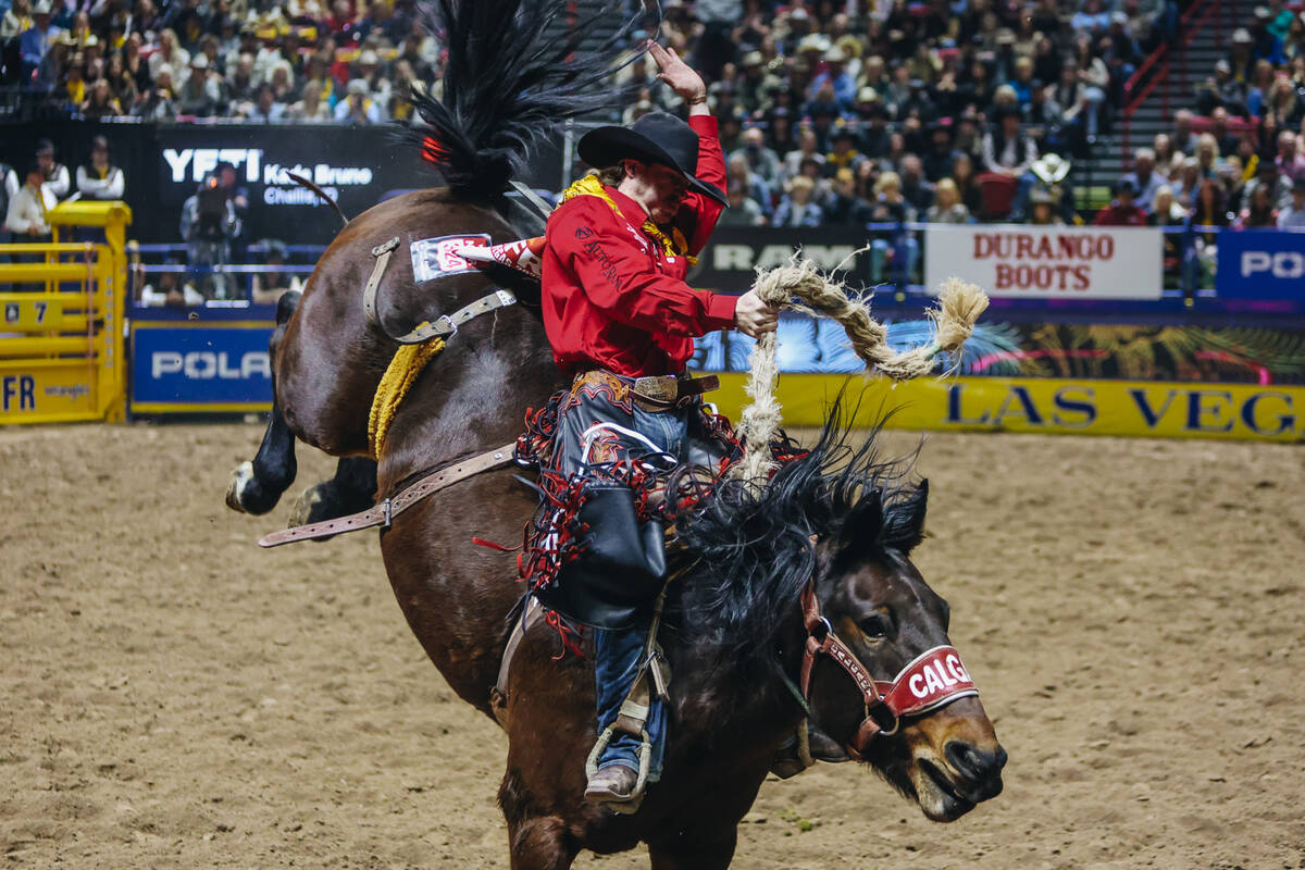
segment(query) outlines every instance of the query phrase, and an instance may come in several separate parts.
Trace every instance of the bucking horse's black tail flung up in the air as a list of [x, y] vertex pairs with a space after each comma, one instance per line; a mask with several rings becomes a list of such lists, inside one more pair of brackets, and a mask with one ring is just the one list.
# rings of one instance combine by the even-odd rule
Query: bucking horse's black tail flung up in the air
[[407, 138], [458, 197], [501, 194], [560, 124], [619, 103], [621, 95], [607, 78], [636, 21], [582, 52], [582, 35], [594, 22], [620, 13], [604, 7], [555, 38], [552, 25], [568, 5], [573, 4], [437, 0], [428, 12], [432, 33], [449, 55], [441, 97], [414, 91], [422, 120], [408, 128]]

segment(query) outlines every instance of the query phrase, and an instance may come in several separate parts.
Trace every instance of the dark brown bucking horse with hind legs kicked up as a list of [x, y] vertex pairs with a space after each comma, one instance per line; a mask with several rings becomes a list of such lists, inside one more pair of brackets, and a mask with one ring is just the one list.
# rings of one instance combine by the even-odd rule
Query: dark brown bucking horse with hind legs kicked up
[[[565, 5], [440, 0], [442, 94], [415, 98], [423, 123], [407, 136], [444, 187], [348, 220], [303, 295], [282, 297], [271, 417], [227, 502], [271, 510], [294, 481], [299, 440], [339, 464], [300, 497], [292, 523], [384, 506], [381, 554], [403, 616], [458, 697], [506, 728], [499, 801], [514, 869], [561, 870], [582, 849], [641, 841], [654, 867], [726, 867], [779, 749], [806, 723], [829, 743], [820, 758], [865, 764], [928, 818], [957, 819], [1000, 793], [1006, 754], [950, 647], [947, 604], [910, 558], [927, 484], [881, 460], [874, 434], [851, 446], [837, 421], [762, 485], [720, 481], [679, 513], [660, 633], [672, 674], [664, 772], [633, 815], [583, 800], [594, 669], [561, 655], [565, 639], [547, 621], [514, 638], [526, 591], [515, 558], [472, 543], [519, 540], [536, 510], [519, 470], [476, 460], [501, 458], [505, 445], [510, 454], [527, 411], [564, 386], [538, 286], [508, 269], [422, 280], [422, 263], [405, 256], [431, 239], [539, 235], [539, 218], [530, 226], [506, 192], [560, 121], [612, 106], [606, 82], [622, 37], [589, 52], [583, 27], [547, 42]], [[502, 293], [514, 303], [454, 316]], [[395, 337], [419, 325], [442, 325], [444, 348], [390, 408], [373, 455], [373, 397], [401, 351]], [[414, 481], [441, 473], [392, 511]], [[578, 643], [585, 653], [583, 633]]]

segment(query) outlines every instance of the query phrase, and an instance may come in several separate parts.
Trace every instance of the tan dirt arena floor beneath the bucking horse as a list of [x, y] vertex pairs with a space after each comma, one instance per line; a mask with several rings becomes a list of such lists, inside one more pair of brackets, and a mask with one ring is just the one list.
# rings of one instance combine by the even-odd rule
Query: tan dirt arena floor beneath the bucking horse
[[[260, 434], [0, 430], [0, 866], [506, 866], [504, 740], [375, 536], [264, 552], [286, 507], [223, 506]], [[1006, 790], [940, 826], [820, 766], [733, 866], [1305, 867], [1301, 447], [936, 434], [920, 468]]]

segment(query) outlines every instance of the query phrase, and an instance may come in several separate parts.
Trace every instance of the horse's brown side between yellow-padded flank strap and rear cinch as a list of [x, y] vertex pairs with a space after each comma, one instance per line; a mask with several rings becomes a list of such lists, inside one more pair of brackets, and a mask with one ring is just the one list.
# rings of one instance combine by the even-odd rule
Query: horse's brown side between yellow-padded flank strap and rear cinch
[[380, 459], [380, 489], [515, 441], [526, 410], [560, 386], [538, 314], [517, 305], [478, 318], [449, 338], [399, 406]]

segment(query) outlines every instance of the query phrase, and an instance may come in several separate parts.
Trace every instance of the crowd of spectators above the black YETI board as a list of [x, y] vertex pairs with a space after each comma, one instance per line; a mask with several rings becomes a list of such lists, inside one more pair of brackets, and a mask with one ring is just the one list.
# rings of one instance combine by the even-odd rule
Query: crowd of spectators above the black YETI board
[[86, 119], [377, 124], [408, 117], [410, 87], [438, 78], [440, 48], [415, 0], [0, 0], [0, 9], [4, 83]]

